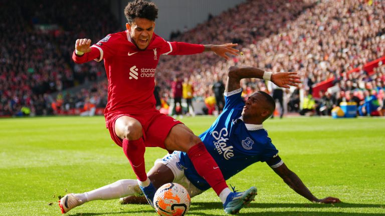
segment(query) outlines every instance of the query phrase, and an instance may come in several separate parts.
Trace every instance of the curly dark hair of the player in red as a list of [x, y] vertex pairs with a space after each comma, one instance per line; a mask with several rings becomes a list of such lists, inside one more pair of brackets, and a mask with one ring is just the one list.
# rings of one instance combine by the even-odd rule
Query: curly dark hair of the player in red
[[124, 8], [124, 15], [126, 16], [128, 23], [132, 23], [136, 17], [155, 21], [158, 17], [158, 8], [152, 2], [134, 0], [129, 2], [126, 8]]

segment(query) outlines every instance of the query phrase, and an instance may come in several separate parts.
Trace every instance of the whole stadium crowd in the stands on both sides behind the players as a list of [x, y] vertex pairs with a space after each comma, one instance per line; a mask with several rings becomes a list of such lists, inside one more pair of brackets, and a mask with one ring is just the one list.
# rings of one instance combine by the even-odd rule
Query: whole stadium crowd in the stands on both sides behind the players
[[[91, 97], [99, 98], [92, 101], [99, 101], [96, 105], [103, 106], [100, 102], [106, 97], [103, 64], [77, 65], [70, 60], [70, 55], [76, 38], [87, 36], [95, 42], [108, 32], [121, 30], [107, 11], [108, 5], [102, 1], [92, 3], [92, 11], [81, 10], [82, 17], [89, 13], [86, 14], [88, 18], [81, 19], [77, 14], [80, 8], [89, 6], [87, 2], [40, 2], [20, 6], [20, 2], [9, 1], [7, 6], [0, 7], [3, 42], [0, 50], [0, 115], [23, 114], [23, 107], [39, 114], [37, 109], [44, 105], [51, 110], [46, 111], [49, 114], [55, 112], [53, 102], [63, 106], [62, 109], [66, 108], [63, 104], [76, 107], [76, 102], [61, 103], [60, 96], [59, 103], [48, 101], [48, 93], [93, 80], [98, 80], [98, 84], [63, 97], [72, 98], [71, 101], [83, 100], [84, 104], [87, 95], [92, 94]], [[363, 70], [363, 65], [384, 56], [383, 17], [385, 1], [382, 0], [248, 0], [193, 29], [172, 35], [175, 41], [191, 43], [236, 42], [243, 54], [233, 56], [227, 62], [208, 53], [172, 59], [162, 56], [156, 70], [161, 89], [160, 105], [167, 106], [166, 102], [172, 98], [172, 80], [181, 75], [194, 86], [193, 96], [206, 101], [212, 112], [216, 109], [214, 82], [225, 82], [225, 73], [232, 65], [249, 65], [271, 71], [298, 71], [303, 77], [301, 89], [309, 95], [313, 84], [334, 77], [336, 90], [321, 92], [319, 98], [312, 99], [314, 104], [306, 107], [312, 113], [330, 114], [330, 108], [340, 101], [354, 98], [362, 104], [366, 96], [375, 95], [378, 114], [381, 114], [385, 67], [379, 65], [369, 74], [371, 71]], [[353, 68], [361, 69], [348, 73]], [[245, 97], [254, 90], [269, 91], [263, 81], [245, 79], [242, 83]], [[286, 93], [288, 111], [299, 112], [303, 108], [299, 91], [294, 89]], [[40, 108], [36, 104], [40, 104]]]

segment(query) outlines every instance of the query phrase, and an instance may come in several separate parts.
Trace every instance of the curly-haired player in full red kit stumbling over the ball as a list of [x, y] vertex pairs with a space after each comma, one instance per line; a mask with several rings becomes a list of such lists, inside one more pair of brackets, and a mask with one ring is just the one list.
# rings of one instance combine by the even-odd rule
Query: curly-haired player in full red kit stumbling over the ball
[[[155, 108], [154, 76], [161, 54], [182, 55], [213, 51], [226, 59], [226, 53], [237, 55], [237, 44], [202, 45], [168, 42], [154, 31], [157, 7], [145, 0], [129, 2], [124, 13], [126, 30], [108, 34], [96, 44], [90, 39], [77, 39], [72, 55], [76, 63], [101, 61], [108, 79], [108, 103], [104, 111], [106, 126], [112, 139], [123, 148], [138, 184], [153, 206], [156, 191], [146, 175], [146, 146], [187, 153], [197, 172], [221, 198], [226, 212], [237, 212], [256, 194], [251, 187], [245, 192], [231, 192], [201, 139], [183, 123], [161, 114]], [[68, 197], [68, 196], [67, 196]], [[59, 201], [62, 212], [71, 209], [65, 197]]]

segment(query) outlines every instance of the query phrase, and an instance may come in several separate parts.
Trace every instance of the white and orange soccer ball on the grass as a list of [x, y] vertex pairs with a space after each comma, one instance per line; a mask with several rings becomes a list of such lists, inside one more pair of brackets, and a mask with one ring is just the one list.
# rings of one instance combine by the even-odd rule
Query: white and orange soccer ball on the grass
[[177, 183], [166, 183], [154, 195], [155, 210], [162, 216], [179, 216], [190, 208], [190, 195], [186, 188]]

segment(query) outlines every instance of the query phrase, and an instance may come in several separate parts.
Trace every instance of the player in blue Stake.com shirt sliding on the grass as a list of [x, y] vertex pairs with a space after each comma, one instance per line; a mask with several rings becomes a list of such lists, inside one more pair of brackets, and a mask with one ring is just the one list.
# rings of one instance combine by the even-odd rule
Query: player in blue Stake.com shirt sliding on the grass
[[[296, 72], [267, 72], [254, 67], [231, 67], [226, 89], [225, 107], [212, 126], [199, 137], [218, 164], [225, 179], [242, 171], [247, 166], [266, 162], [294, 191], [312, 202], [335, 203], [338, 198], [319, 199], [291, 171], [278, 155], [262, 122], [275, 110], [273, 97], [264, 91], [256, 91], [243, 101], [240, 80], [243, 78], [263, 78], [280, 87], [297, 86]], [[168, 182], [183, 185], [190, 196], [196, 196], [210, 188], [207, 181], [195, 170], [185, 152], [174, 151], [155, 161], [147, 173], [156, 188]], [[65, 197], [68, 210], [91, 200], [121, 198], [122, 203], [146, 203], [136, 180], [122, 179], [84, 193], [70, 193]], [[62, 198], [62, 199], [63, 199]], [[248, 202], [250, 202], [249, 200]], [[246, 203], [245, 203], [246, 204]], [[68, 211], [67, 210], [67, 211]], [[227, 212], [237, 213], [237, 212]]]

